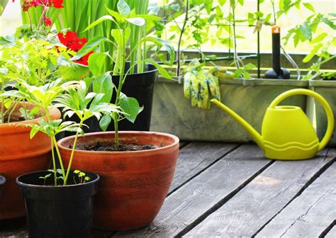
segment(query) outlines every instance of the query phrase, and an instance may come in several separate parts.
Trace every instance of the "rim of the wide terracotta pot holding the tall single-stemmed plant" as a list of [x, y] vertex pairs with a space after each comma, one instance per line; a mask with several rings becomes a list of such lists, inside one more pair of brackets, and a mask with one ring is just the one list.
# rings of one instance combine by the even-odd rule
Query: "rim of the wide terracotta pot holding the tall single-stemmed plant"
[[[103, 134], [112, 134], [114, 135], [114, 132], [91, 132], [91, 133], [86, 133], [84, 135], [79, 135], [79, 137], [85, 137], [85, 135], [89, 135], [89, 136], [99, 136], [99, 135], [103, 135]], [[76, 153], [80, 153], [80, 154], [92, 154], [94, 152], [94, 154], [114, 154], [114, 155], [119, 155], [119, 154], [141, 154], [141, 153], [147, 153], [148, 151], [151, 152], [158, 152], [164, 149], [170, 149], [170, 148], [174, 148], [177, 145], [179, 145], [179, 137], [175, 136], [175, 135], [171, 135], [168, 133], [164, 133], [164, 132], [145, 132], [145, 131], [133, 131], [133, 130], [125, 130], [125, 131], [120, 131], [119, 135], [127, 135], [127, 134], [145, 134], [145, 135], [159, 135], [159, 136], [163, 136], [163, 137], [170, 137], [174, 140], [174, 142], [172, 142], [172, 144], [164, 146], [164, 147], [159, 147], [159, 148], [155, 148], [155, 149], [145, 149], [145, 150], [136, 150], [136, 151], [126, 151], [126, 152], [99, 152], [99, 151], [89, 151], [89, 150], [81, 150], [81, 149], [75, 149]], [[62, 146], [62, 143], [67, 141], [67, 140], [72, 140], [75, 137], [75, 135], [69, 136], [69, 137], [65, 137], [62, 138], [61, 140], [59, 140], [57, 142], [57, 145], [59, 147], [62, 147], [62, 149], [71, 152], [72, 149], [69, 149], [67, 147]]]

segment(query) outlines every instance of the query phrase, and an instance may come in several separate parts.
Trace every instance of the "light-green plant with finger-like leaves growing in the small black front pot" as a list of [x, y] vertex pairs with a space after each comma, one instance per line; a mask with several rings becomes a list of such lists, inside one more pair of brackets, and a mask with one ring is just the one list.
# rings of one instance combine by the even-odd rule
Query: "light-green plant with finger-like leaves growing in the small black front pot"
[[[103, 94], [89, 93], [89, 87], [86, 86], [84, 81], [69, 81], [64, 83], [62, 79], [56, 79], [42, 86], [32, 86], [27, 84], [26, 81], [19, 80], [16, 87], [18, 91], [6, 91], [0, 96], [24, 98], [28, 103], [33, 103], [45, 112], [47, 120], [40, 120], [38, 124], [28, 124], [28, 126], [31, 127], [30, 138], [33, 138], [37, 132], [43, 132], [50, 137], [51, 148], [55, 147], [61, 168], [57, 171], [56, 156], [54, 150], [52, 150], [52, 171], [54, 173], [55, 186], [59, 184], [60, 176], [58, 174], [61, 174], [62, 184], [67, 185], [69, 171], [74, 159], [74, 149], [76, 148], [77, 138], [80, 133], [84, 133], [82, 130], [84, 120], [93, 116], [99, 120], [102, 113], [121, 113], [121, 111], [111, 103], [104, 103], [102, 100]], [[55, 103], [55, 105], [53, 105], [53, 103]], [[76, 114], [79, 118], [79, 123], [52, 120], [50, 117], [50, 107], [52, 106], [63, 108], [65, 117]], [[64, 131], [76, 132], [67, 169], [63, 166], [62, 157], [56, 141], [56, 135]]]

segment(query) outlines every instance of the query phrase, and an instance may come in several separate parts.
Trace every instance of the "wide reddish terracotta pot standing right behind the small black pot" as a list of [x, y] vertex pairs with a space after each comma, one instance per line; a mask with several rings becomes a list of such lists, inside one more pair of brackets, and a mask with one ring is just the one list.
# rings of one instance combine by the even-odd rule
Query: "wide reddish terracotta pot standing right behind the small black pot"
[[[135, 152], [74, 152], [73, 169], [101, 176], [95, 198], [94, 227], [124, 230], [145, 227], [154, 220], [174, 177], [179, 138], [158, 132], [120, 132], [124, 143], [157, 145]], [[58, 142], [67, 161], [74, 137]], [[95, 132], [79, 137], [78, 143], [114, 142], [114, 132]], [[65, 162], [67, 163], [67, 162]]]

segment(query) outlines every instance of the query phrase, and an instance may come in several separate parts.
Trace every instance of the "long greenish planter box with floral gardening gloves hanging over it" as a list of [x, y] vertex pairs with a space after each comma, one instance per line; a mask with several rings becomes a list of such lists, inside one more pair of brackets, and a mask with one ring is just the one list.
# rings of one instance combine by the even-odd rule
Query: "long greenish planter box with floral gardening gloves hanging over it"
[[[308, 88], [308, 81], [275, 79], [221, 79], [225, 105], [261, 131], [264, 113], [276, 96], [289, 89]], [[306, 108], [306, 96], [292, 96], [283, 105]], [[159, 80], [154, 87], [150, 130], [177, 135], [180, 140], [250, 142], [250, 135], [229, 115], [212, 106], [211, 111], [191, 107], [183, 84]]]

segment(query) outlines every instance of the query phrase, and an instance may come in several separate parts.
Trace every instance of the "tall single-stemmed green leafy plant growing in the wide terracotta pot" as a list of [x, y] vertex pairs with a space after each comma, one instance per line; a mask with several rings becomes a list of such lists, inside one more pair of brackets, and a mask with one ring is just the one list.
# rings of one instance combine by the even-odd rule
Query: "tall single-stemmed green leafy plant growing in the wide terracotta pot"
[[[108, 103], [111, 101], [113, 92], [116, 93], [116, 101], [115, 105], [120, 106], [121, 109], [123, 109], [124, 113], [106, 113], [102, 120], [101, 120], [101, 128], [103, 130], [106, 130], [107, 125], [113, 120], [114, 122], [114, 128], [115, 128], [115, 147], [118, 148], [119, 142], [118, 142], [118, 123], [120, 120], [123, 120], [127, 118], [131, 122], [134, 122], [136, 116], [140, 111], [142, 110], [138, 104], [138, 101], [135, 98], [129, 98], [125, 94], [122, 93], [123, 84], [125, 82], [125, 79], [130, 72], [133, 71], [133, 69], [136, 67], [136, 65], [140, 63], [150, 63], [155, 65], [157, 69], [159, 70], [160, 74], [162, 74], [163, 77], [166, 77], [167, 79], [170, 79], [168, 72], [161, 67], [159, 64], [154, 62], [153, 60], [145, 59], [145, 60], [136, 60], [133, 64], [130, 64], [129, 69], [125, 69], [125, 62], [130, 60], [130, 57], [132, 57], [133, 51], [135, 51], [138, 47], [138, 45], [143, 44], [144, 42], [153, 42], [156, 45], [161, 45], [167, 48], [169, 52], [174, 55], [174, 49], [163, 40], [160, 40], [159, 38], [153, 38], [153, 37], [145, 37], [138, 39], [138, 44], [135, 45], [134, 49], [130, 52], [129, 55], [126, 55], [126, 43], [128, 40], [130, 40], [130, 37], [133, 33], [133, 30], [135, 29], [133, 26], [144, 26], [146, 19], [152, 19], [152, 16], [148, 15], [137, 15], [135, 13], [135, 10], [131, 10], [130, 6], [124, 1], [120, 0], [117, 4], [118, 12], [113, 11], [111, 9], [107, 8], [107, 11], [110, 15], [102, 16], [98, 20], [91, 23], [86, 30], [89, 30], [91, 28], [94, 28], [95, 26], [103, 23], [104, 21], [111, 21], [116, 24], [117, 28], [111, 30], [111, 37], [112, 40], [109, 40], [108, 38], [105, 38], [103, 36], [96, 36], [95, 38], [92, 38], [89, 40], [89, 42], [84, 45], [82, 50], [79, 50], [77, 55], [72, 58], [72, 60], [77, 60], [79, 57], [82, 57], [83, 55], [86, 55], [87, 52], [94, 50], [98, 45], [100, 45], [102, 42], [108, 42], [109, 44], [113, 45], [115, 52], [113, 55], [110, 55], [108, 53], [100, 53], [96, 52], [92, 54], [89, 57], [89, 62], [92, 62], [92, 59], [94, 61], [99, 62], [106, 62], [104, 61], [106, 58], [110, 58], [114, 62], [114, 68], [112, 72], [103, 72], [101, 74], [101, 69], [99, 69], [99, 66], [97, 64], [89, 64], [89, 68], [91, 69], [91, 72], [93, 72], [95, 75], [93, 89], [96, 93], [103, 93], [105, 94], [105, 97], [103, 98], [103, 101]], [[174, 59], [172, 59], [174, 61]], [[118, 80], [118, 86], [113, 85], [111, 81], [111, 73], [119, 75]]]

